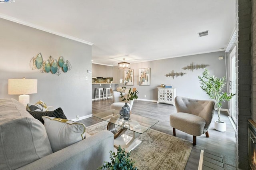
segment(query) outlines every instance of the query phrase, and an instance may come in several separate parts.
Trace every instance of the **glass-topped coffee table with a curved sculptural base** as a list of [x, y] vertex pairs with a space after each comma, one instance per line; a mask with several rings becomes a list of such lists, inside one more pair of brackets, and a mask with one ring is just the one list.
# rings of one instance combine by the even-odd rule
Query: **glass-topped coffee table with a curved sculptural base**
[[[114, 134], [114, 145], [116, 147], [120, 145], [122, 148], [125, 148], [126, 152], [133, 150], [141, 143], [138, 140], [140, 134], [158, 123], [158, 120], [134, 114], [131, 114], [130, 119], [126, 121], [120, 119], [121, 116], [117, 110], [104, 111], [93, 114], [93, 116], [108, 122], [107, 130]], [[133, 136], [124, 134], [126, 130], [132, 130]]]

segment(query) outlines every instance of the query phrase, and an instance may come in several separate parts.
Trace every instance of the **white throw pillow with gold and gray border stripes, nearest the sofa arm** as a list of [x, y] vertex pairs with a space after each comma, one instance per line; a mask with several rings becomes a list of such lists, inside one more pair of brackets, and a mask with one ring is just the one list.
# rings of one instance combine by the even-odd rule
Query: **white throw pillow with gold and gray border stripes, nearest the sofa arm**
[[53, 152], [85, 138], [85, 125], [82, 123], [48, 116], [42, 118]]

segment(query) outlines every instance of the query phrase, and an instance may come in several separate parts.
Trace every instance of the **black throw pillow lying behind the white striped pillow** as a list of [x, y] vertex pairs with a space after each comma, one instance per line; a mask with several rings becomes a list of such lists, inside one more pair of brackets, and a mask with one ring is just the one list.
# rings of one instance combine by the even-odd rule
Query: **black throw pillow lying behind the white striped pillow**
[[28, 111], [28, 113], [30, 113], [30, 115], [32, 115], [34, 118], [36, 118], [40, 122], [42, 122], [42, 124], [44, 124], [44, 120], [43, 120], [42, 116], [67, 119], [66, 115], [64, 115], [64, 113], [60, 107], [58, 109], [55, 109], [54, 111], [46, 111], [46, 112]]

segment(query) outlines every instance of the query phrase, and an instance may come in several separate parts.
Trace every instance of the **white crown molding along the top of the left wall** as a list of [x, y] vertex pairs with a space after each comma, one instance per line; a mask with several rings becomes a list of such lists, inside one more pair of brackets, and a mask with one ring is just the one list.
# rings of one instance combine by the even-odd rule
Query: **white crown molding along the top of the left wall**
[[64, 38], [68, 38], [70, 40], [74, 40], [76, 42], [81, 42], [81, 43], [85, 43], [87, 45], [93, 45], [93, 43], [91, 42], [87, 42], [85, 40], [82, 40], [82, 39], [79, 39], [79, 38], [75, 38], [75, 37], [72, 37], [72, 36], [68, 36], [66, 34], [62, 34], [62, 33], [59, 33], [59, 32], [54, 32], [52, 30], [48, 30], [44, 27], [41, 27], [41, 26], [38, 26], [36, 24], [32, 24], [32, 23], [29, 23], [29, 22], [26, 22], [26, 21], [23, 21], [23, 20], [19, 20], [17, 18], [13, 18], [13, 17], [10, 17], [10, 16], [6, 16], [4, 14], [1, 14], [0, 13], [0, 18], [3, 18], [5, 20], [9, 20], [9, 21], [12, 21], [12, 22], [16, 22], [18, 24], [22, 24], [24, 26], [28, 26], [28, 27], [32, 27], [32, 28], [35, 28], [37, 30], [41, 30], [41, 31], [44, 31], [44, 32], [48, 32], [48, 33], [51, 33], [51, 34], [54, 34], [54, 35], [57, 35], [57, 36], [61, 36], [61, 37], [64, 37]]

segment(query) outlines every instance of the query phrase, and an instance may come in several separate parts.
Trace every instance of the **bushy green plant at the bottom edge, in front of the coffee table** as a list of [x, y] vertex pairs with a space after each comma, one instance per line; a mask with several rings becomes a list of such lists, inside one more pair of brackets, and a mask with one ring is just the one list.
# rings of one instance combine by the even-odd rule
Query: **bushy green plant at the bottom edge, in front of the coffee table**
[[127, 154], [122, 150], [121, 146], [118, 146], [117, 152], [110, 151], [110, 160], [111, 162], [105, 161], [105, 165], [100, 166], [98, 169], [107, 169], [107, 170], [138, 170], [137, 167], [134, 167], [134, 161], [130, 159], [130, 152]]

